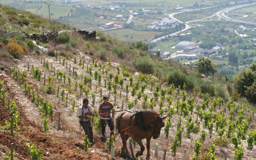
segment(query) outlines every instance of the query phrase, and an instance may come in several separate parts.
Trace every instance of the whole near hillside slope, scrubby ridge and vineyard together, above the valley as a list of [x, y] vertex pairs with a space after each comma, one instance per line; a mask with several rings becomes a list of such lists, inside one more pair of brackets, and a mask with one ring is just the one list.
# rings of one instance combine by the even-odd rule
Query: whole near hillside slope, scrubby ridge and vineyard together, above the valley
[[[200, 70], [205, 68], [162, 61], [149, 55], [143, 42], [121, 42], [99, 31], [96, 39], [88, 39], [66, 31], [72, 28], [62, 23], [0, 9], [0, 159], [10, 157], [11, 143], [15, 159], [110, 159], [97, 114], [103, 95], [114, 104], [115, 117], [127, 109], [168, 115], [159, 138], [151, 139], [149, 159], [156, 159], [155, 143], [161, 159], [164, 149], [166, 159], [182, 159], [185, 151], [187, 159], [256, 159], [255, 107], [233, 82], [212, 76], [214, 65]], [[62, 32], [48, 44], [36, 39], [36, 46], [19, 31]], [[40, 52], [42, 47], [48, 52]], [[255, 75], [253, 69], [248, 72]], [[97, 114], [95, 145], [88, 151], [77, 117], [83, 98]], [[124, 159], [121, 147], [117, 136], [115, 159]], [[140, 150], [136, 143], [133, 149]]]

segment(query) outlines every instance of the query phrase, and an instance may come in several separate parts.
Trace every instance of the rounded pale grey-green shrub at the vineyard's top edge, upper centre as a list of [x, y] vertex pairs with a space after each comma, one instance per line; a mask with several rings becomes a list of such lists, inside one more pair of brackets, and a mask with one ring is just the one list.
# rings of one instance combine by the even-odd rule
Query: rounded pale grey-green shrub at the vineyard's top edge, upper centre
[[155, 72], [155, 65], [147, 57], [139, 58], [135, 62], [135, 64], [136, 64], [137, 70], [139, 70], [143, 74], [153, 74]]

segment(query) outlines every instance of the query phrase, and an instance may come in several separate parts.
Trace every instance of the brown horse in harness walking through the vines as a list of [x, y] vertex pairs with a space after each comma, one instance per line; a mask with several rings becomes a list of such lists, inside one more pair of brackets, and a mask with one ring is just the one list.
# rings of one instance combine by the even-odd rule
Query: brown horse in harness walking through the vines
[[159, 114], [152, 110], [143, 110], [141, 112], [121, 112], [117, 116], [117, 129], [120, 133], [123, 141], [123, 147], [121, 149], [122, 157], [129, 157], [129, 151], [127, 149], [127, 139], [134, 137], [135, 141], [141, 147], [141, 151], [137, 151], [136, 157], [141, 156], [145, 150], [142, 144], [142, 139], [147, 139], [147, 158], [150, 157], [149, 148], [151, 137], [157, 139], [160, 135], [161, 128], [164, 127], [163, 118]]

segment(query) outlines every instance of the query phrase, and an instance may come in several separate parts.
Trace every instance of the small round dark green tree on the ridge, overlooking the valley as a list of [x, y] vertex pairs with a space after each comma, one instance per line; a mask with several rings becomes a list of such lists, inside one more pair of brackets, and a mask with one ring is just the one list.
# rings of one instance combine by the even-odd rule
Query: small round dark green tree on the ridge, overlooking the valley
[[217, 72], [216, 64], [213, 64], [212, 60], [208, 58], [200, 58], [198, 62], [196, 62], [196, 68], [203, 74], [214, 74]]

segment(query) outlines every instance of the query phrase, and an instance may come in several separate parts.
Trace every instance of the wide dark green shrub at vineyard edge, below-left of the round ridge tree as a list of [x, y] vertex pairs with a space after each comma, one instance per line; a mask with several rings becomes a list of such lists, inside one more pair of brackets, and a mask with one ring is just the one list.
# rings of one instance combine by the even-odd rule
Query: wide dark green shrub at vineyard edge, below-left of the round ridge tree
[[194, 82], [188, 79], [188, 76], [179, 70], [175, 70], [168, 75], [168, 83], [174, 84], [174, 86], [180, 86], [183, 89], [183, 84], [185, 83], [188, 89], [194, 88]]

